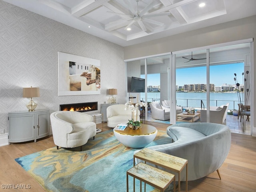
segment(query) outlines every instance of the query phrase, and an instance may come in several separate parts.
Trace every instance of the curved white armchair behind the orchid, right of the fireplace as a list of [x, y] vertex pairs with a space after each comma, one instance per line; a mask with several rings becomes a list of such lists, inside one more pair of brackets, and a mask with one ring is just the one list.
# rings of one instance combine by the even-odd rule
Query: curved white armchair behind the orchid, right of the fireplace
[[[115, 128], [120, 123], [128, 123], [128, 120], [132, 120], [132, 110], [129, 108], [125, 110], [124, 104], [110, 105], [107, 108], [107, 126]], [[137, 110], [137, 118], [135, 120], [140, 121], [140, 111]]]

